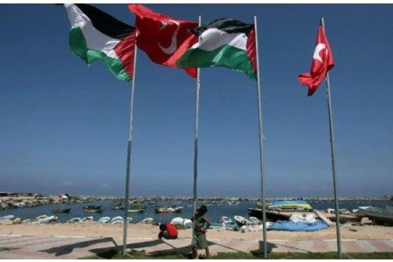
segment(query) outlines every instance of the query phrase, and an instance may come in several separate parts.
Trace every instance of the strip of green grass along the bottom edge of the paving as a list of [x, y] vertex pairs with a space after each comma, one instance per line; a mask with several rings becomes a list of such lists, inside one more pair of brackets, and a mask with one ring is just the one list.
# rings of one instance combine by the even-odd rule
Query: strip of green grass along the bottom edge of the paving
[[[129, 256], [123, 256], [121, 252], [110, 250], [86, 259], [189, 259], [190, 254], [161, 253], [148, 255], [141, 251], [131, 251]], [[202, 259], [204, 257], [201, 257]], [[336, 252], [329, 253], [271, 253], [269, 259], [337, 259]], [[210, 259], [263, 259], [262, 254], [246, 253], [219, 253]], [[393, 259], [393, 253], [345, 253], [343, 259]]]

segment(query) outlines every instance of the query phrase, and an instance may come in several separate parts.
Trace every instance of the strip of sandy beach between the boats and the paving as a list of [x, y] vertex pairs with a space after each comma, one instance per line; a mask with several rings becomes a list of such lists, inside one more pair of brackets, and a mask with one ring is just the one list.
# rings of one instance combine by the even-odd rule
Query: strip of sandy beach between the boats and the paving
[[[130, 238], [156, 238], [159, 232], [158, 226], [130, 224], [128, 227], [128, 237]], [[57, 224], [19, 224], [0, 225], [0, 234], [17, 235], [67, 235], [67, 236], [109, 236], [121, 237], [122, 224], [99, 224], [96, 222], [85, 223], [57, 223]], [[209, 229], [208, 239], [259, 239], [262, 232], [233, 232], [226, 230]], [[311, 240], [311, 239], [335, 239], [336, 227], [316, 232], [280, 232], [268, 231], [269, 239], [286, 240]], [[393, 227], [376, 225], [351, 225], [341, 226], [342, 239], [393, 239]], [[191, 238], [191, 229], [179, 230], [179, 238]]]

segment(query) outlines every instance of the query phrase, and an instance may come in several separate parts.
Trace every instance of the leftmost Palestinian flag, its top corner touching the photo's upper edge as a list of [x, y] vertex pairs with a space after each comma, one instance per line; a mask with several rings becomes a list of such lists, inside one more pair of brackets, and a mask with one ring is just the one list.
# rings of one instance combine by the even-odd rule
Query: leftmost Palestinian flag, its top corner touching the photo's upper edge
[[72, 52], [90, 66], [101, 59], [112, 74], [130, 81], [134, 70], [135, 28], [88, 4], [64, 4], [71, 23]]

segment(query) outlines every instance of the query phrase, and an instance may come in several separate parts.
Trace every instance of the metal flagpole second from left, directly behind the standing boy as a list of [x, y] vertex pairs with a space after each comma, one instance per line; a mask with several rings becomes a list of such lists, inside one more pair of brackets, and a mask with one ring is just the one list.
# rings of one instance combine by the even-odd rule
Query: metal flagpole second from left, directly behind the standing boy
[[[201, 18], [198, 17], [198, 26], [201, 25]], [[199, 41], [199, 39], [198, 39]], [[198, 117], [199, 117], [199, 89], [200, 89], [200, 69], [197, 68], [197, 86], [195, 88], [195, 138], [194, 138], [194, 190], [193, 190], [193, 200], [194, 200], [194, 213], [197, 212], [197, 176], [198, 176]], [[195, 217], [193, 221], [193, 238], [195, 234]]]

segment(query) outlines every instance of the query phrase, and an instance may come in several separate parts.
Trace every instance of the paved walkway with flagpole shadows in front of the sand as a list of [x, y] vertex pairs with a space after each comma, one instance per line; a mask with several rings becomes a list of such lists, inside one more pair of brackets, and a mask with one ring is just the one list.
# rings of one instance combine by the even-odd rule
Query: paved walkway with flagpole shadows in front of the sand
[[[158, 240], [129, 238], [129, 248], [145, 250], [150, 254], [190, 251], [191, 239]], [[78, 259], [110, 249], [121, 249], [121, 239], [112, 237], [21, 236], [0, 235], [0, 259]], [[212, 254], [218, 252], [261, 252], [257, 240], [210, 239]], [[336, 240], [269, 240], [269, 251], [282, 252], [335, 252]], [[343, 239], [343, 252], [393, 252], [393, 239]]]

